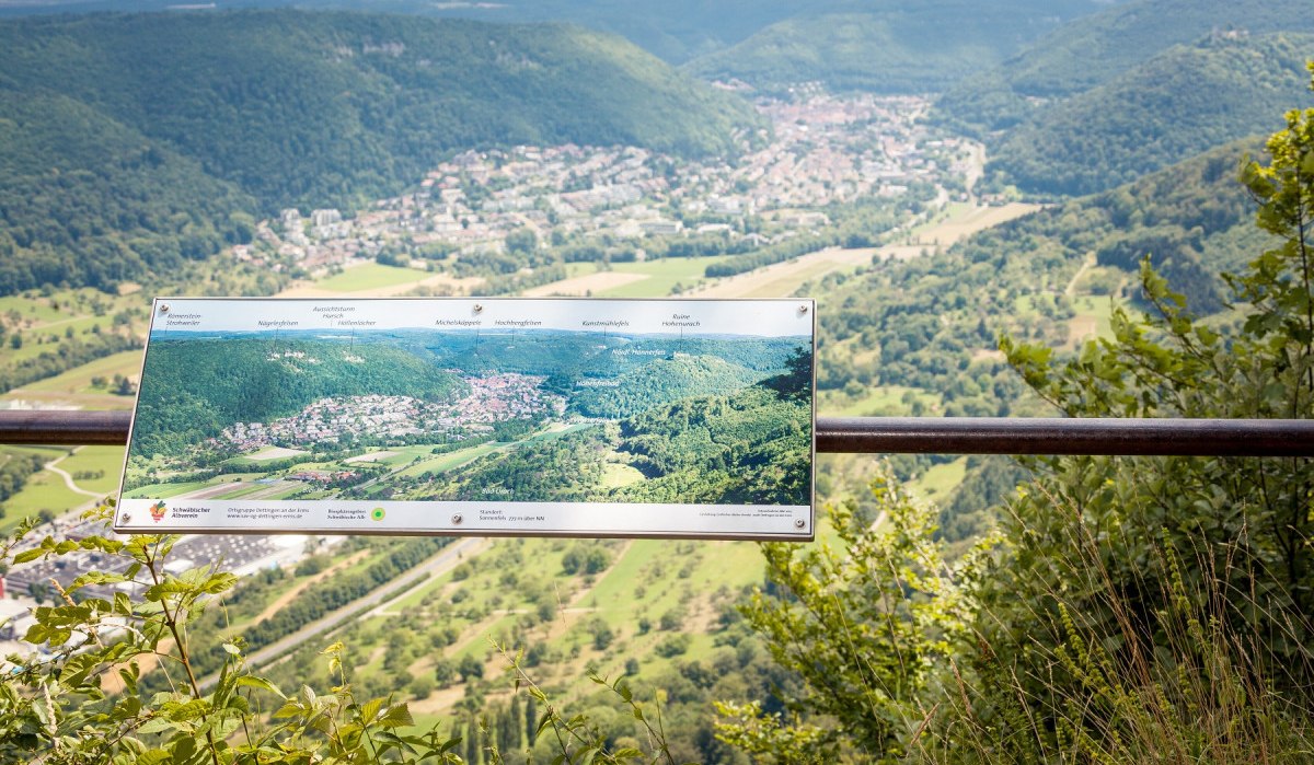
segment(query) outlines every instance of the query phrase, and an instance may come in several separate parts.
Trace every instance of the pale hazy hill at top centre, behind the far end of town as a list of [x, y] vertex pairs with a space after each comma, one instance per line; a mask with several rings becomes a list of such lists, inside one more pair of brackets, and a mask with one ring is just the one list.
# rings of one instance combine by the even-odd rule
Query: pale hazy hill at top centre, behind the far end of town
[[1093, 0], [854, 0], [802, 11], [689, 70], [767, 89], [942, 91], [1101, 4]]

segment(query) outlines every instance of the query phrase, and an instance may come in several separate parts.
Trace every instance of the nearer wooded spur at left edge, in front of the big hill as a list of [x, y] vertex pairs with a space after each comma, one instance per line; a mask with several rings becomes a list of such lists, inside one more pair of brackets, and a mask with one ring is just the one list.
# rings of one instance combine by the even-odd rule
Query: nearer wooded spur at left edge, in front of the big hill
[[196, 159], [0, 74], [0, 294], [176, 272], [250, 241], [254, 209]]

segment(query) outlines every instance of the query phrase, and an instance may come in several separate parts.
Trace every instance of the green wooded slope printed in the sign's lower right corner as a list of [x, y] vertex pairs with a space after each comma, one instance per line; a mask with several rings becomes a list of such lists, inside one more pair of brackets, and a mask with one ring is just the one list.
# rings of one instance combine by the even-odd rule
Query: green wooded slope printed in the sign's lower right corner
[[[518, 502], [808, 505], [811, 396], [752, 385], [691, 396], [616, 425], [537, 438], [443, 473], [399, 481], [394, 498]], [[608, 463], [643, 480], [610, 486]], [[636, 475], [635, 478], [639, 478]]]

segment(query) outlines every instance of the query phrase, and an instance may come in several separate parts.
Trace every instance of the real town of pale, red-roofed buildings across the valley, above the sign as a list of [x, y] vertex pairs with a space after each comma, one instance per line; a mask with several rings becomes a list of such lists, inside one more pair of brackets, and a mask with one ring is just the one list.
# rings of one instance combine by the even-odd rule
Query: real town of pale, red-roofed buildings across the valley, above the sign
[[[917, 181], [962, 177], [970, 145], [921, 120], [918, 96], [812, 93], [759, 106], [771, 121], [733, 160], [689, 162], [639, 147], [518, 146], [466, 151], [434, 168], [413, 193], [343, 220], [284, 210], [260, 226], [243, 259], [277, 255], [307, 271], [374, 256], [505, 251], [511, 231], [541, 244], [570, 238], [750, 235], [749, 220], [775, 229], [829, 223], [819, 210], [863, 197], [899, 197]], [[779, 233], [779, 231], [777, 231]]]

